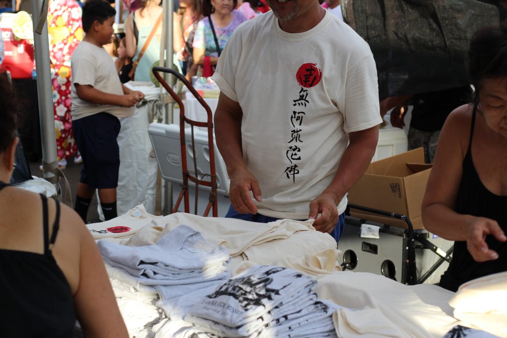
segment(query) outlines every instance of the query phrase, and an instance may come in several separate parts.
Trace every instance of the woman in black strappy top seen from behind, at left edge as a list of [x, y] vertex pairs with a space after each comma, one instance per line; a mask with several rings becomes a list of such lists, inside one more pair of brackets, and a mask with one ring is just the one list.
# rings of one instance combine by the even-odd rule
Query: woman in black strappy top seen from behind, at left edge
[[0, 337], [128, 337], [100, 253], [79, 215], [10, 181], [18, 139], [0, 74]]

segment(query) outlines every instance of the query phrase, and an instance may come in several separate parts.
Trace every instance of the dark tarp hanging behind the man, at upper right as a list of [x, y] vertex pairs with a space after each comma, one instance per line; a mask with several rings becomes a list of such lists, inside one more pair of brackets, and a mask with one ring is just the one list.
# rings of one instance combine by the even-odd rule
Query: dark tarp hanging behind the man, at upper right
[[346, 22], [370, 45], [379, 96], [468, 84], [465, 55], [479, 28], [499, 23], [477, 0], [342, 0]]

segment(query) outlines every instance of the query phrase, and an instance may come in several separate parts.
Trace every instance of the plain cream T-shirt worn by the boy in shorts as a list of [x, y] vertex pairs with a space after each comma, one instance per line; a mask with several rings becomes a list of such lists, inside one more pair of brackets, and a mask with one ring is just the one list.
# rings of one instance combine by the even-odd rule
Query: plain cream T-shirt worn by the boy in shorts
[[70, 57], [71, 67], [71, 115], [78, 120], [99, 112], [107, 112], [119, 118], [134, 114], [134, 108], [113, 104], [96, 104], [79, 98], [75, 84], [91, 85], [105, 93], [123, 95], [122, 83], [116, 72], [115, 62], [102, 47], [82, 41]]

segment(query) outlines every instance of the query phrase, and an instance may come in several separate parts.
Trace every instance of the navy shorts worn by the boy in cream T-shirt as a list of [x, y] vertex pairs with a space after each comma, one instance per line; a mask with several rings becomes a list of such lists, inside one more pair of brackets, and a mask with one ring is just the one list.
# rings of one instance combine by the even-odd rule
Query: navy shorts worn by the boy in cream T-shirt
[[83, 157], [79, 181], [91, 190], [118, 186], [120, 149], [116, 138], [120, 126], [120, 120], [106, 112], [72, 122], [74, 139]]

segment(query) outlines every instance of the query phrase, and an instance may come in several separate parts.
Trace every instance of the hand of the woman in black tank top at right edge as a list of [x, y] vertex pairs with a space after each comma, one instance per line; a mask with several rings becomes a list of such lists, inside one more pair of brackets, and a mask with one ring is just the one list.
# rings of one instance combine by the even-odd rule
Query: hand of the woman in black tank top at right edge
[[498, 226], [495, 220], [474, 217], [468, 222], [466, 227], [466, 247], [472, 257], [478, 262], [493, 260], [498, 258], [498, 253], [491, 250], [486, 244], [486, 236], [493, 235], [498, 241], [505, 242], [507, 237]]

